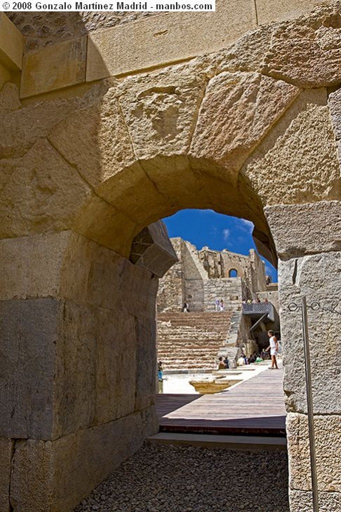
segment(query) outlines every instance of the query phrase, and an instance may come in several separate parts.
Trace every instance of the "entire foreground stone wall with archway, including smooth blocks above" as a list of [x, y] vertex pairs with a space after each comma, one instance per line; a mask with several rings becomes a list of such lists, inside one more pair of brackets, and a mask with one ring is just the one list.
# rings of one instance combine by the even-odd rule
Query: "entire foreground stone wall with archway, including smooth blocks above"
[[148, 226], [188, 207], [252, 221], [278, 262], [291, 512], [312, 511], [306, 295], [320, 510], [341, 508], [341, 3], [217, 12], [0, 13], [2, 512], [70, 512], [157, 431], [175, 259]]

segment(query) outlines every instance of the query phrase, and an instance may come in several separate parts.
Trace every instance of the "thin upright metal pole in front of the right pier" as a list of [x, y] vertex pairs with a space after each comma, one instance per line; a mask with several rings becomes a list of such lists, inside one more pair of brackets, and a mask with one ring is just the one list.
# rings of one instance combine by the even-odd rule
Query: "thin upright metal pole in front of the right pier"
[[309, 335], [308, 335], [308, 316], [307, 316], [307, 301], [306, 301], [305, 295], [303, 297], [301, 297], [301, 301], [302, 301], [302, 323], [303, 323], [303, 347], [304, 347], [306, 389], [307, 389], [312, 505], [313, 505], [313, 512], [319, 512], [319, 494], [317, 492], [315, 433], [314, 433], [314, 416], [313, 416], [312, 386], [311, 386], [311, 365], [310, 365], [310, 349], [309, 349]]

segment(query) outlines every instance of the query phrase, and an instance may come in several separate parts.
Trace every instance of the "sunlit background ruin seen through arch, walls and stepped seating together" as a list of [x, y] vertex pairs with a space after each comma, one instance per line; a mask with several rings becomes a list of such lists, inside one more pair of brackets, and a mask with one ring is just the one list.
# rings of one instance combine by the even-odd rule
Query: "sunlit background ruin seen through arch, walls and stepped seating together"
[[249, 357], [266, 348], [267, 330], [280, 333], [278, 291], [257, 252], [247, 256], [197, 250], [181, 238], [171, 242], [177, 262], [160, 280], [156, 298], [164, 368], [213, 369], [219, 355], [232, 364], [242, 352]]

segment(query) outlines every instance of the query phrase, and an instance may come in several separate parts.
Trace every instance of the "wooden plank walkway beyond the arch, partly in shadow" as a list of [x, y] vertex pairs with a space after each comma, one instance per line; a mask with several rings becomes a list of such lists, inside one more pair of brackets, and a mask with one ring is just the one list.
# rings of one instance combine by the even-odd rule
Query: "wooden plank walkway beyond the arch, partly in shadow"
[[285, 436], [283, 370], [214, 395], [156, 395], [161, 432]]

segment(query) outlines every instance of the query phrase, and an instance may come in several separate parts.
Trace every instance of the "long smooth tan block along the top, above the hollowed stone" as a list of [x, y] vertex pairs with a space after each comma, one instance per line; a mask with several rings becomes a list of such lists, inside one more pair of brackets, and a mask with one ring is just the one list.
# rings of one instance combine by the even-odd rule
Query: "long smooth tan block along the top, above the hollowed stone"
[[89, 35], [86, 80], [128, 74], [211, 53], [256, 26], [253, 0], [217, 2], [217, 12], [162, 13]]

